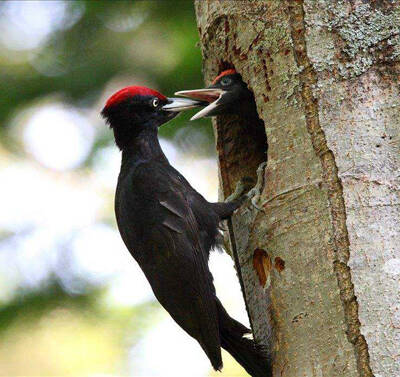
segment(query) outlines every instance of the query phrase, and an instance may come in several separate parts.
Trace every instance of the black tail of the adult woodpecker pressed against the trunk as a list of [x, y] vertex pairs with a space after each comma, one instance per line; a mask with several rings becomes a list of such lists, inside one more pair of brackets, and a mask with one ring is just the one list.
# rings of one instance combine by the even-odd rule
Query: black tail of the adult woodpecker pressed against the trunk
[[217, 307], [222, 348], [228, 351], [250, 376], [272, 376], [271, 361], [252, 339], [244, 337], [251, 331], [231, 318], [218, 299]]

